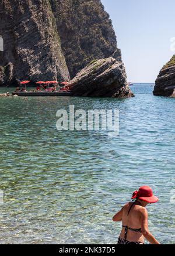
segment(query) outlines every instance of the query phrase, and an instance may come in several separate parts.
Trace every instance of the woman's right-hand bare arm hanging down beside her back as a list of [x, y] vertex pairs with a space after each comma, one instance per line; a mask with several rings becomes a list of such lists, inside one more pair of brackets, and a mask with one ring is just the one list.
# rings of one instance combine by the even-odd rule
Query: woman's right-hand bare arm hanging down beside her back
[[149, 232], [148, 228], [148, 211], [146, 209], [142, 209], [141, 211], [141, 228], [142, 234], [149, 241], [150, 244], [160, 244], [156, 238]]

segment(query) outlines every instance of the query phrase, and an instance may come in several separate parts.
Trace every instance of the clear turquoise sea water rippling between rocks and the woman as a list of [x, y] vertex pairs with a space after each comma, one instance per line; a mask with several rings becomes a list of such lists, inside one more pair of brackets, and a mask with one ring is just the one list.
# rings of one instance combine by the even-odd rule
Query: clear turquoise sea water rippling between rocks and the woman
[[[150, 84], [132, 90], [126, 100], [0, 98], [1, 244], [115, 244], [111, 219], [142, 185], [160, 198], [148, 206], [150, 231], [175, 243], [175, 99]], [[71, 104], [119, 109], [120, 135], [58, 132], [56, 112]]]

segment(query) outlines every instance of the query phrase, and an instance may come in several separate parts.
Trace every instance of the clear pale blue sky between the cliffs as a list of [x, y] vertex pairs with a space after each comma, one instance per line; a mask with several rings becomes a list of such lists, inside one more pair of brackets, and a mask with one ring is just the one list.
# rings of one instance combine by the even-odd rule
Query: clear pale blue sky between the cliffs
[[154, 82], [175, 52], [174, 0], [101, 0], [113, 21], [128, 81]]

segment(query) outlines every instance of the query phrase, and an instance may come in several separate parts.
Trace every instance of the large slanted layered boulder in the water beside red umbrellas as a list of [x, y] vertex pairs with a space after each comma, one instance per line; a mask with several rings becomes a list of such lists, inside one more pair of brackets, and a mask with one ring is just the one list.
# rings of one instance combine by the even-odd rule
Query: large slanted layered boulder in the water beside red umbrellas
[[70, 81], [69, 87], [75, 96], [134, 97], [127, 84], [124, 64], [113, 57], [90, 63]]

